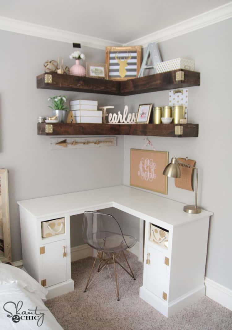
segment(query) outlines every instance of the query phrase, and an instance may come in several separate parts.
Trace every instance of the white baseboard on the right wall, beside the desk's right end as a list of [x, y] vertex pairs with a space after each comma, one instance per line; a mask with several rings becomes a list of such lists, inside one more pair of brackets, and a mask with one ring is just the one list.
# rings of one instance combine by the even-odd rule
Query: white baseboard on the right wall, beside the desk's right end
[[232, 290], [207, 277], [205, 278], [205, 286], [207, 297], [232, 311]]

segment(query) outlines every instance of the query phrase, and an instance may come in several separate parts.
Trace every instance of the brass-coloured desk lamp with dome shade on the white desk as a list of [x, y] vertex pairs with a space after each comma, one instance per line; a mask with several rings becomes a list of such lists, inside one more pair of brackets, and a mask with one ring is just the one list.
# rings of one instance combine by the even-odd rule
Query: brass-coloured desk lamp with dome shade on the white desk
[[178, 166], [179, 164], [184, 165], [186, 167], [191, 167], [196, 170], [195, 205], [185, 205], [184, 211], [192, 214], [201, 213], [201, 208], [197, 206], [198, 168], [179, 162], [178, 158], [176, 158], [175, 156], [174, 158], [172, 158], [171, 163], [169, 163], [163, 170], [163, 175], [170, 178], [180, 178], [181, 170]]

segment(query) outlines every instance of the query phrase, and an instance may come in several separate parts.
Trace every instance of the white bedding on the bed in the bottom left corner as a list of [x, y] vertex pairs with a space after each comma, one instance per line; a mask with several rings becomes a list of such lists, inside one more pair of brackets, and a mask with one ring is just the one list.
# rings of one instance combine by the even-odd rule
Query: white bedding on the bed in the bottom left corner
[[[21, 270], [21, 272], [23, 271]], [[22, 276], [24, 277], [23, 274]], [[29, 275], [27, 274], [27, 276]], [[12, 278], [10, 283], [6, 283], [7, 281], [6, 279], [5, 284], [0, 284], [0, 329], [63, 329], [44, 305], [38, 291], [30, 292], [27, 286], [20, 285], [20, 281], [12, 282]], [[40, 286], [39, 283], [38, 285]], [[43, 287], [41, 286], [41, 288]]]

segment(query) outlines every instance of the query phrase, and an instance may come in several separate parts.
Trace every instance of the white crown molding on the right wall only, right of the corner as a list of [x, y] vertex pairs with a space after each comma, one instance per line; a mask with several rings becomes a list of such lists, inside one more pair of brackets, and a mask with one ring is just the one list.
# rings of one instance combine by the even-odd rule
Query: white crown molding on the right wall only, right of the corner
[[205, 26], [218, 23], [231, 17], [232, 2], [229, 2], [223, 6], [217, 7], [198, 16], [191, 17], [180, 23], [168, 26], [162, 30], [130, 41], [123, 46], [141, 45], [142, 47], [146, 47], [151, 42], [161, 42], [164, 40], [172, 39], [182, 34], [201, 29]]

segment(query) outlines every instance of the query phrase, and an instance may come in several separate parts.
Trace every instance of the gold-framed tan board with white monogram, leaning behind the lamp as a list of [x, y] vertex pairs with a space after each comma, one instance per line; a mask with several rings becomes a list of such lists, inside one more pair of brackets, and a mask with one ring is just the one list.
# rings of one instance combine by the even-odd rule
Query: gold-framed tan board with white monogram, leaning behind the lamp
[[130, 149], [130, 185], [167, 195], [167, 151]]

